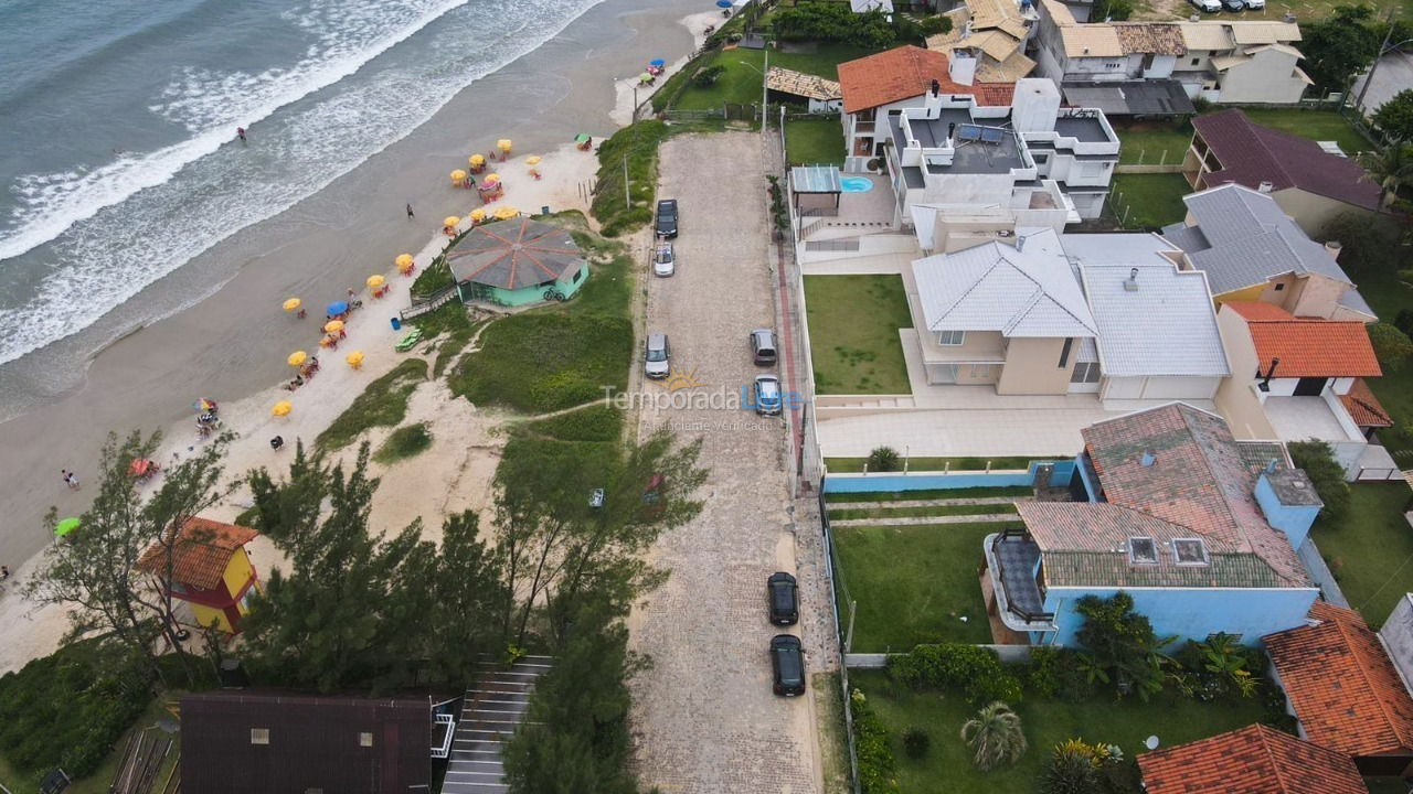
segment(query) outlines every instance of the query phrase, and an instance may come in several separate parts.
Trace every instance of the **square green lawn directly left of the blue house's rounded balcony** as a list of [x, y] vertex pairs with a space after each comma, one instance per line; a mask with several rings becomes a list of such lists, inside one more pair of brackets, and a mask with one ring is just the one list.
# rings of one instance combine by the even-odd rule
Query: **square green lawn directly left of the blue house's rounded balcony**
[[[989, 643], [978, 565], [982, 538], [1007, 527], [934, 524], [839, 527], [834, 531], [841, 579], [858, 600], [853, 651], [906, 651], [918, 643]], [[848, 600], [839, 613], [848, 615]], [[962, 617], [966, 617], [964, 622]], [[844, 617], [846, 620], [846, 617]]]

